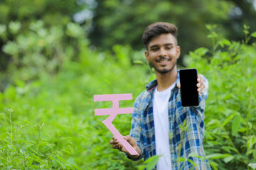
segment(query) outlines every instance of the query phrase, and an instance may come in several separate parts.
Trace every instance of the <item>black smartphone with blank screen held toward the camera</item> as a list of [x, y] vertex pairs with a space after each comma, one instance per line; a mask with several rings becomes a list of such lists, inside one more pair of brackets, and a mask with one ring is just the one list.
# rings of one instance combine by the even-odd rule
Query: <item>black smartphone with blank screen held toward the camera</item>
[[198, 106], [199, 94], [198, 94], [198, 73], [196, 69], [180, 69], [179, 71], [180, 83], [181, 83], [181, 105], [186, 106]]

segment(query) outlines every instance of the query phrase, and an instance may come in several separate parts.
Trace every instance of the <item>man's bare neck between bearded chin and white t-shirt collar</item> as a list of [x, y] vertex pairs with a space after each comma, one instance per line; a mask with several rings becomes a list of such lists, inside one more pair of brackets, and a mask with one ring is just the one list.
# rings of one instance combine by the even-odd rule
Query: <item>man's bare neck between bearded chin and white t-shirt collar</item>
[[168, 72], [166, 74], [161, 74], [159, 72], [156, 72], [156, 80], [157, 80], [157, 91], [164, 91], [168, 89], [171, 84], [174, 84], [177, 79], [177, 69], [176, 66], [174, 69], [171, 70], [171, 72]]

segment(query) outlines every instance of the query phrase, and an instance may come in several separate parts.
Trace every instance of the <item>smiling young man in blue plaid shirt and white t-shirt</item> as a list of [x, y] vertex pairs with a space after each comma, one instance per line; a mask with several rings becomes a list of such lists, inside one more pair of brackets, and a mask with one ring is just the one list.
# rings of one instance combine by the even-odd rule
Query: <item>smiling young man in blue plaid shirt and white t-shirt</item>
[[[203, 112], [208, 81], [198, 75], [199, 106], [181, 106], [181, 85], [176, 69], [181, 48], [177, 32], [171, 23], [153, 23], [142, 37], [145, 57], [154, 67], [156, 80], [151, 81], [136, 99], [130, 135], [124, 137], [139, 156], [129, 155], [115, 137], [110, 144], [132, 160], [161, 155], [156, 169], [210, 169], [208, 161], [203, 159]], [[185, 123], [186, 128], [183, 128]]]

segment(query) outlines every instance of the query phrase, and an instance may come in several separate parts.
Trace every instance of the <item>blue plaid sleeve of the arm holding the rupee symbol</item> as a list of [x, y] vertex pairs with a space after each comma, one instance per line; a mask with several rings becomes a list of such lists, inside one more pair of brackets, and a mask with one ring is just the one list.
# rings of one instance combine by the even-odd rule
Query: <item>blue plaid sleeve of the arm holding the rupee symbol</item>
[[143, 135], [142, 135], [142, 110], [139, 105], [142, 101], [142, 94], [136, 99], [134, 102], [134, 112], [132, 113], [132, 128], [130, 130], [129, 135], [136, 140], [137, 145], [142, 150], [141, 155], [137, 159], [132, 159], [126, 154], [127, 158], [132, 159], [133, 161], [137, 161], [142, 159], [144, 155], [144, 145], [143, 145]]

